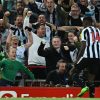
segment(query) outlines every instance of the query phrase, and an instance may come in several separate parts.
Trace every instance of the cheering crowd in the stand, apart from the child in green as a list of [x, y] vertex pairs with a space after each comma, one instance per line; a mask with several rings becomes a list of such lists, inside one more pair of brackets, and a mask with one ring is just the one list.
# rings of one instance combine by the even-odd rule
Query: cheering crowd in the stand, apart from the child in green
[[[16, 60], [27, 66], [35, 80], [46, 80], [45, 86], [82, 86], [87, 69], [73, 74], [74, 63], [81, 47], [83, 18], [92, 17], [100, 28], [96, 3], [97, 0], [0, 0], [0, 61], [9, 58], [7, 52], [12, 47], [16, 49]], [[19, 77], [28, 79], [20, 69], [16, 80]]]

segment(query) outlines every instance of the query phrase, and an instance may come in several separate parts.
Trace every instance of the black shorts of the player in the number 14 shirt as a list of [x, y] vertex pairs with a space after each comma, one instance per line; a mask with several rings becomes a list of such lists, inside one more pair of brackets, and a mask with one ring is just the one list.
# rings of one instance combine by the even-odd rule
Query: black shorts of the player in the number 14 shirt
[[76, 67], [78, 70], [87, 68], [90, 74], [94, 74], [96, 77], [100, 76], [100, 59], [98, 58], [83, 58]]

